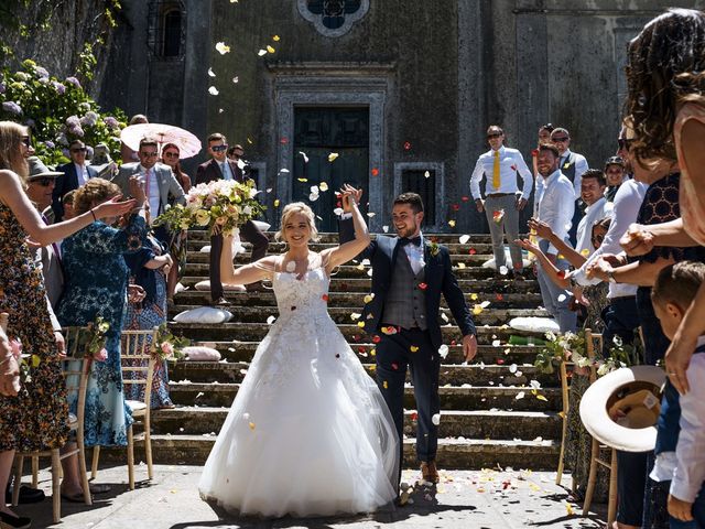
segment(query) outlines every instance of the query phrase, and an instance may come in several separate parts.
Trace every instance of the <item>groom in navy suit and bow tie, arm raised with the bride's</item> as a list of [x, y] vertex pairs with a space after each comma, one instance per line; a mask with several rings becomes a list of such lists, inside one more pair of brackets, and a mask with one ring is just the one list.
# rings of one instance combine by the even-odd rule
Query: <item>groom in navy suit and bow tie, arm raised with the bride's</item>
[[[361, 191], [356, 191], [359, 202]], [[355, 237], [350, 205], [344, 201], [340, 242]], [[451, 266], [448, 249], [430, 242], [421, 233], [423, 202], [416, 193], [394, 199], [392, 219], [397, 237], [378, 236], [360, 253], [372, 266], [371, 300], [360, 322], [376, 336], [377, 381], [394, 418], [403, 456], [404, 381], [411, 371], [417, 408], [416, 457], [424, 481], [438, 483], [435, 457], [438, 427], [433, 417], [441, 411], [438, 373], [443, 337], [438, 324], [441, 294], [463, 332], [463, 353], [471, 360], [477, 353], [475, 324]], [[437, 420], [435, 421], [437, 422]], [[400, 463], [401, 478], [401, 463]]]

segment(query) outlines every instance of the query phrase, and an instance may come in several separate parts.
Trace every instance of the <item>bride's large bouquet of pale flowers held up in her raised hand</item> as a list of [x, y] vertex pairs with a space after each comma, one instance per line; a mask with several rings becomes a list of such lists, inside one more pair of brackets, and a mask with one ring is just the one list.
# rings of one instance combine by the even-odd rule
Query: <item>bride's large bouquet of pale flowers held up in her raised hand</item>
[[176, 204], [154, 219], [154, 224], [181, 231], [195, 226], [207, 227], [210, 234], [218, 229], [224, 235], [234, 235], [237, 228], [259, 216], [264, 206], [254, 197], [259, 191], [254, 182], [217, 180], [198, 184], [186, 194], [186, 205]]

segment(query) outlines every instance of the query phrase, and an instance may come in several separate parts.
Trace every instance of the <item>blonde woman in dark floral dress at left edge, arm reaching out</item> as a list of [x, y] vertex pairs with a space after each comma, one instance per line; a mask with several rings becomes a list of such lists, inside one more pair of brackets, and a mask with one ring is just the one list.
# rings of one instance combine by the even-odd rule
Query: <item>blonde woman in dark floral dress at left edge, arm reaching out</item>
[[[31, 380], [23, 380], [18, 360], [2, 349], [0, 493], [6, 490], [15, 450], [59, 447], [68, 434], [66, 389], [56, 361], [63, 342], [53, 334], [42, 273], [35, 268], [26, 238], [50, 245], [88, 226], [94, 218], [121, 215], [134, 205], [133, 201], [110, 201], [70, 220], [47, 226], [24, 192], [30, 144], [25, 127], [0, 121], [0, 312], [10, 316], [10, 338], [19, 339], [24, 353], [40, 358], [39, 366], [31, 368]], [[18, 517], [3, 501], [0, 523], [30, 527], [31, 520]]]

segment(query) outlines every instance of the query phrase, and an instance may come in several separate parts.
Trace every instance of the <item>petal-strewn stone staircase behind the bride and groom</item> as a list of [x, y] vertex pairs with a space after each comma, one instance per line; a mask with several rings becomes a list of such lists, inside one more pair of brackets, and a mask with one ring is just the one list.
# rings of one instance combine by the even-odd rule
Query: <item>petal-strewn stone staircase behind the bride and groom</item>
[[[533, 367], [538, 347], [509, 345], [510, 335], [532, 336], [532, 333], [512, 331], [506, 325], [514, 316], [545, 315], [543, 310], [536, 309], [541, 303], [536, 281], [496, 279], [492, 270], [481, 268], [481, 263], [491, 257], [489, 236], [471, 236], [464, 245], [455, 235], [429, 237], [449, 248], [456, 277], [470, 307], [490, 302], [474, 316], [479, 348], [473, 365], [463, 363], [460, 346], [456, 345], [462, 336], [447, 306], [441, 310], [449, 354], [441, 368], [440, 465], [446, 468], [500, 465], [554, 469], [561, 436], [558, 381]], [[207, 279], [208, 255], [199, 251], [206, 244], [204, 231], [189, 233], [188, 264], [182, 279], [188, 290], [176, 295], [170, 319], [183, 310], [209, 303], [208, 292], [193, 288], [197, 281]], [[321, 241], [312, 248], [319, 251], [335, 244], [337, 234], [322, 234]], [[249, 260], [249, 245], [245, 247], [248, 253], [238, 255], [238, 263]], [[283, 245], [270, 244], [269, 252], [282, 250]], [[373, 376], [375, 358], [370, 354], [373, 345], [351, 317], [352, 313], [361, 312], [369, 288], [369, 267], [355, 262], [340, 267], [330, 283], [328, 306], [360, 361]], [[189, 337], [194, 345], [217, 348], [223, 360], [170, 365], [171, 395], [180, 406], [158, 410], [152, 415], [156, 462], [205, 462], [254, 350], [269, 330], [267, 321], [278, 315], [271, 291], [227, 293], [227, 299], [234, 323], [171, 324], [173, 333]], [[532, 380], [540, 382], [540, 389], [531, 386]], [[408, 465], [414, 464], [414, 408], [413, 389], [408, 382], [404, 424]]]

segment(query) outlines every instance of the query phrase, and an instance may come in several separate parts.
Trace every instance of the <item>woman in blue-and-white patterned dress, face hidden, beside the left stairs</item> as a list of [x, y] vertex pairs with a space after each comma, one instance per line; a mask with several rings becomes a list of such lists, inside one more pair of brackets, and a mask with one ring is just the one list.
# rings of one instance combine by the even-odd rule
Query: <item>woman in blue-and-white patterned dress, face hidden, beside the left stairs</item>
[[[137, 253], [124, 256], [130, 268], [131, 281], [144, 289], [145, 296], [140, 302], [130, 302], [124, 316], [124, 328], [148, 331], [166, 323], [166, 277], [173, 267], [172, 258], [163, 250], [154, 237], [149, 237], [144, 247]], [[151, 339], [149, 342], [151, 344]], [[135, 375], [134, 371], [124, 376]], [[144, 398], [144, 385], [129, 384], [126, 379], [126, 393], [130, 400]], [[169, 397], [169, 371], [166, 360], [159, 360], [154, 366], [152, 379], [151, 408], [173, 408]]]

